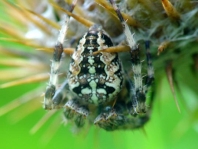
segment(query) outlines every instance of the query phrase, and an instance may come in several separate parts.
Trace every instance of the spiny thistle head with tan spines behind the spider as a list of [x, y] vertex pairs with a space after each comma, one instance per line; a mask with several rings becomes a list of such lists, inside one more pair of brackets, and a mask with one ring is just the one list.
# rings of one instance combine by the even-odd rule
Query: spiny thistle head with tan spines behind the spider
[[[145, 41], [150, 41], [155, 70], [155, 84], [150, 98], [154, 100], [154, 104], [162, 97], [160, 96], [162, 90], [167, 90], [167, 85], [162, 83], [166, 78], [172, 92], [170, 96], [174, 97], [178, 111], [181, 113], [188, 111], [188, 118], [184, 117], [175, 129], [184, 134], [181, 128], [187, 131], [191, 125], [197, 125], [198, 2], [126, 0], [116, 4], [130, 30], [134, 32], [142, 55]], [[71, 60], [69, 51], [72, 53], [72, 48], [76, 47], [78, 39], [88, 30], [88, 26], [100, 24], [116, 44], [127, 44], [124, 42], [122, 25], [114, 9], [105, 0], [79, 0], [72, 13], [67, 11], [71, 5], [69, 0], [66, 3], [53, 0], [42, 2], [3, 0], [0, 5], [1, 14], [5, 14], [1, 15], [0, 19], [1, 91], [11, 88], [12, 92], [17, 92], [15, 90], [17, 86], [34, 84], [30, 91], [20, 91], [21, 95], [17, 99], [9, 99], [9, 95], [4, 95], [2, 100], [5, 102], [0, 107], [0, 116], [18, 109], [20, 112], [15, 110], [14, 116], [17, 119], [13, 121], [42, 110], [41, 102], [49, 80], [50, 60], [66, 14], [71, 18], [64, 42], [67, 49], [64, 49], [66, 54], [61, 62], [60, 81], [67, 76], [66, 68], [69, 67]], [[146, 68], [145, 63], [142, 63], [143, 69]], [[128, 65], [127, 60], [125, 64]], [[22, 105], [26, 108], [21, 108]], [[30, 132], [36, 133], [53, 118], [54, 122], [50, 128], [60, 128], [61, 112], [61, 110], [45, 112], [38, 118], [38, 122], [35, 122]], [[152, 120], [152, 113], [150, 118]], [[65, 120], [64, 123], [68, 121]], [[71, 128], [73, 124], [69, 123], [69, 126]], [[77, 128], [73, 130], [79, 131]], [[53, 133], [47, 133], [49, 134], [53, 136]]]

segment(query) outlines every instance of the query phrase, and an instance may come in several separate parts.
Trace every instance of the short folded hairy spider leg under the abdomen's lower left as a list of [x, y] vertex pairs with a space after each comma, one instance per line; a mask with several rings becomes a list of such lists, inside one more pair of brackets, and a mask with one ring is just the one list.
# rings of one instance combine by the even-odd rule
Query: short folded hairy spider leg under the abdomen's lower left
[[77, 127], [82, 127], [85, 124], [88, 115], [88, 108], [79, 104], [76, 99], [69, 100], [65, 104], [64, 116], [67, 119], [74, 119]]

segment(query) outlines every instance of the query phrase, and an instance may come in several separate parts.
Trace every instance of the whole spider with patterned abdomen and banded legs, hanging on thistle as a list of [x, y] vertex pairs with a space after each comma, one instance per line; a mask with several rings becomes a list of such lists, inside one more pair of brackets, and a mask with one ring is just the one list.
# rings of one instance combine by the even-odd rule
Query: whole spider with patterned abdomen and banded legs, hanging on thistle
[[[88, 120], [105, 130], [139, 128], [149, 119], [150, 112], [145, 104], [146, 93], [154, 80], [149, 41], [145, 42], [148, 69], [143, 81], [139, 46], [115, 2], [110, 0], [110, 3], [123, 26], [128, 43], [125, 48], [131, 56], [133, 75], [125, 70], [118, 56], [120, 51], [126, 49], [113, 46], [109, 35], [95, 24], [83, 35], [72, 52], [67, 78], [58, 88], [68, 17], [55, 45], [44, 108], [64, 108], [65, 117], [73, 119], [77, 127], [82, 127]], [[71, 13], [75, 5], [74, 0]]]

